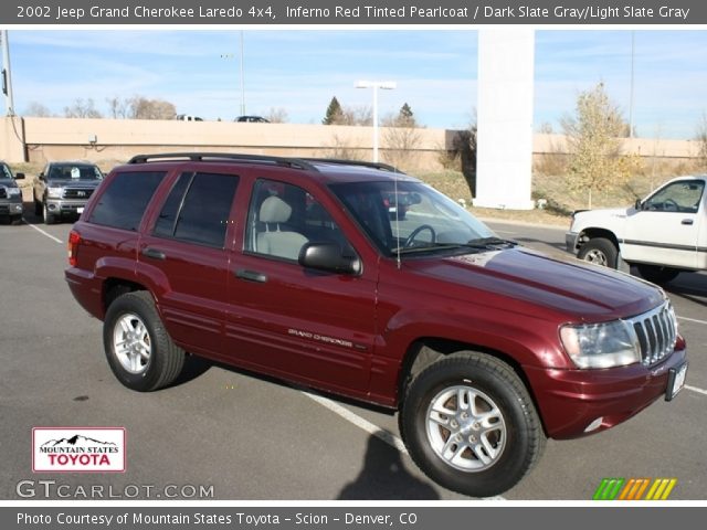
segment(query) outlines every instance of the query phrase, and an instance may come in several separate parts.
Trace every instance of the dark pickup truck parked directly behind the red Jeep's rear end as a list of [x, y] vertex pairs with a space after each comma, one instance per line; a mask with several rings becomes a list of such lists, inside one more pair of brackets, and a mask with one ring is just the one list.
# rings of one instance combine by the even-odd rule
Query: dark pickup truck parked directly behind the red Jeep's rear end
[[46, 224], [80, 215], [102, 180], [103, 173], [94, 163], [49, 162], [34, 179], [34, 214], [42, 215]]

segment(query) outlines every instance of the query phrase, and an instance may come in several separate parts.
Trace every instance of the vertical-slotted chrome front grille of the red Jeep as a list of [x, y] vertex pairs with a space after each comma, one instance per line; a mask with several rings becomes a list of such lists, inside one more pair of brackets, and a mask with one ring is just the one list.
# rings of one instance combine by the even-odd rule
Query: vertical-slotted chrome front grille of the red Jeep
[[677, 325], [669, 303], [629, 321], [636, 332], [644, 365], [655, 364], [673, 352], [677, 340]]

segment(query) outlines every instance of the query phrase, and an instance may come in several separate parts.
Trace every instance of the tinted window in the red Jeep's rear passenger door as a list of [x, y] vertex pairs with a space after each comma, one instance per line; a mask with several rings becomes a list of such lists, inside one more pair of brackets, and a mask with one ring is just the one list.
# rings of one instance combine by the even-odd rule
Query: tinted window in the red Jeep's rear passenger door
[[223, 248], [239, 178], [182, 173], [162, 206], [154, 235]]

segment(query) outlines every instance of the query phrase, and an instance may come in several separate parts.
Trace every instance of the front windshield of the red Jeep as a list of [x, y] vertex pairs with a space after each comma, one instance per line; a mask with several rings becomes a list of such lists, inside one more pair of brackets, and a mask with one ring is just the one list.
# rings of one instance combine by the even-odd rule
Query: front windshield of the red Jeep
[[457, 203], [420, 182], [330, 184], [386, 255], [468, 247], [494, 233]]

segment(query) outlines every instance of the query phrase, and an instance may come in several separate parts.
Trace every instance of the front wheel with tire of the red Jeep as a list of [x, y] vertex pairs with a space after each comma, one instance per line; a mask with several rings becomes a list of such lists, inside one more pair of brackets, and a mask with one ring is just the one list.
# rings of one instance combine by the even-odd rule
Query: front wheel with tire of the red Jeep
[[408, 386], [400, 432], [415, 464], [442, 486], [472, 497], [516, 485], [546, 437], [518, 375], [495, 357], [445, 357]]

